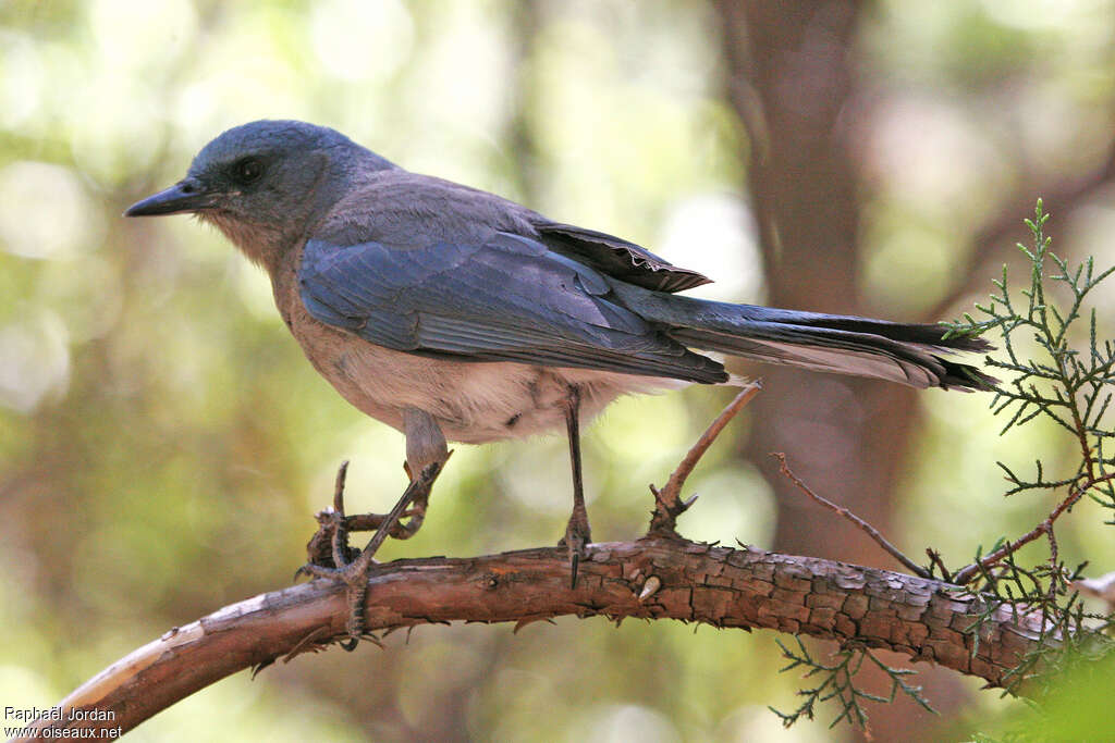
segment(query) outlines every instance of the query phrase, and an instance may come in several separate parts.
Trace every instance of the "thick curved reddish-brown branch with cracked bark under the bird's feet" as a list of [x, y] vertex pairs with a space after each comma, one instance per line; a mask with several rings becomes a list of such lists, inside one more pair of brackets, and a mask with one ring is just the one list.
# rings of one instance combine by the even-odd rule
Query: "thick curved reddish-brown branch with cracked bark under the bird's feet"
[[[855, 642], [931, 661], [991, 686], [1035, 649], [1040, 628], [1009, 608], [899, 573], [758, 549], [646, 538], [592, 545], [576, 589], [563, 549], [375, 566], [370, 630], [447, 622], [516, 622], [573, 615], [700, 622]], [[244, 668], [321, 649], [345, 635], [345, 587], [314, 580], [227, 606], [117, 661], [59, 703], [50, 727], [127, 731], [178, 700]], [[980, 638], [966, 634], [978, 626]], [[516, 627], [517, 628], [517, 627]], [[79, 720], [70, 720], [72, 711]], [[112, 714], [107, 714], [112, 713]], [[110, 717], [97, 720], [95, 717]], [[35, 740], [22, 737], [14, 740]]]

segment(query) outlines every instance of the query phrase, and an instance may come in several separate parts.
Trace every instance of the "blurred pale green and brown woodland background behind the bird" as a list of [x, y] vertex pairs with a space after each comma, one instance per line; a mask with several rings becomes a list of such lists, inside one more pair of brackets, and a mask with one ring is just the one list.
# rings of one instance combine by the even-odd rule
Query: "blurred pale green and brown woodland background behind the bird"
[[[49, 706], [168, 627], [288, 585], [341, 459], [353, 511], [405, 482], [401, 437], [313, 372], [262, 272], [194, 221], [119, 216], [258, 118], [622, 235], [715, 277], [695, 293], [716, 299], [957, 317], [1015, 261], [1039, 195], [1055, 250], [1115, 262], [1111, 0], [0, 2], [0, 705]], [[1048, 510], [1004, 499], [996, 459], [1073, 466], [1049, 428], [999, 438], [987, 395], [737, 371], [766, 389], [691, 480], [694, 539], [895, 567], [779, 479], [784, 451], [957, 566]], [[728, 398], [632, 398], [592, 424], [597, 539], [642, 532], [647, 483]], [[552, 544], [569, 500], [560, 437], [458, 447], [419, 536], [384, 555]], [[1088, 506], [1061, 551], [1109, 570]], [[129, 740], [857, 739], [831, 710], [782, 730], [766, 705], [796, 706], [798, 680], [773, 637], [419, 627], [240, 674]], [[875, 740], [963, 737], [1021, 706], [915, 667], [942, 714], [873, 707]]]

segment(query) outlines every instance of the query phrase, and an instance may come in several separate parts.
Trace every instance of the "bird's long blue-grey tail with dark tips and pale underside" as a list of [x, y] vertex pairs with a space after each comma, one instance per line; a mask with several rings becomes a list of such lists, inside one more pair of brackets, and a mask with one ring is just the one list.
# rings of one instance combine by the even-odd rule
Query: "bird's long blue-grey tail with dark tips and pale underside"
[[628, 307], [666, 325], [671, 338], [707, 351], [917, 388], [992, 390], [998, 382], [939, 355], [992, 348], [978, 338], [944, 339], [941, 325], [710, 302], [619, 282], [613, 287]]

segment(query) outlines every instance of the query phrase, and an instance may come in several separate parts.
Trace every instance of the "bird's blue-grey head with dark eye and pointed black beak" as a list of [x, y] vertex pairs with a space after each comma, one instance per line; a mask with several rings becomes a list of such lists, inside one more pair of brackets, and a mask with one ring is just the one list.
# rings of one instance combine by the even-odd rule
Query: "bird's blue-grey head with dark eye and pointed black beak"
[[270, 268], [353, 177], [391, 167], [327, 127], [252, 121], [205, 145], [185, 178], [133, 204], [124, 215], [195, 214]]

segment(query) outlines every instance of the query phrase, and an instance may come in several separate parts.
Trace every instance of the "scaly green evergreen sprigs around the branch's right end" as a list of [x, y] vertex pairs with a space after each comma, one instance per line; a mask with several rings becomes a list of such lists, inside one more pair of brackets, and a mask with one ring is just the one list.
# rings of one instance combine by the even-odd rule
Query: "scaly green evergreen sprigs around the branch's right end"
[[[946, 323], [947, 336], [997, 333], [1001, 356], [988, 355], [985, 363], [1006, 379], [990, 402], [992, 412], [1006, 418], [1000, 433], [1048, 420], [1075, 440], [1077, 460], [1070, 475], [1056, 477], [1047, 475], [1049, 468], [1040, 457], [1035, 459], [1032, 475], [997, 462], [1008, 483], [1006, 496], [1053, 496], [1056, 505], [1048, 516], [1016, 539], [1002, 537], [987, 550], [977, 546], [973, 561], [956, 571], [946, 568], [935, 550], [927, 550], [933, 561], [929, 569], [939, 568], [956, 584], [958, 594], [976, 599], [973, 620], [966, 628], [973, 656], [979, 652], [982, 627], [1004, 607], [1016, 622], [1039, 628], [1039, 642], [1018, 658], [1004, 691], [1025, 693], [1038, 703], [1054, 688], [1054, 680], [1115, 653], [1115, 641], [1108, 636], [1115, 615], [1085, 610], [1073, 583], [1082, 577], [1087, 563], [1069, 568], [1056, 538], [1058, 519], [1085, 496], [1109, 511], [1104, 524], [1115, 526], [1115, 342], [1101, 340], [1096, 310], [1088, 306], [1096, 287], [1115, 273], [1115, 266], [1096, 271], [1090, 257], [1074, 266], [1054, 253], [1053, 241], [1045, 233], [1048, 219], [1038, 199], [1034, 217], [1025, 221], [1032, 244], [1018, 244], [1029, 262], [1028, 285], [1011, 289], [1005, 265], [1001, 277], [992, 281], [996, 292], [990, 300], [976, 305], [980, 319], [966, 314], [962, 321]], [[1044, 558], [1036, 565], [1021, 565], [1018, 550], [1043, 537], [1047, 545]], [[834, 701], [840, 712], [833, 725], [849, 722], [865, 729], [863, 702], [891, 702], [899, 692], [931, 710], [920, 687], [906, 682], [912, 671], [892, 668], [864, 647], [846, 645], [833, 663], [823, 663], [809, 655], [799, 638], [797, 645], [797, 651], [791, 651], [778, 643], [789, 661], [782, 671], [806, 668], [805, 677], [820, 683], [798, 692], [803, 702], [795, 711], [783, 713], [772, 707], [787, 727], [803, 716], [812, 720], [818, 703]], [[869, 658], [891, 677], [889, 696], [855, 686], [855, 676]]]

